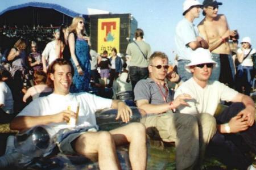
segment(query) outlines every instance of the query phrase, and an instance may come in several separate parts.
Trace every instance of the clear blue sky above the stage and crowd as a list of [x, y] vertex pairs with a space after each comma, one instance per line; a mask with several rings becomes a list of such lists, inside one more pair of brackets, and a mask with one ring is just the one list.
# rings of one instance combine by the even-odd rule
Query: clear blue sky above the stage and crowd
[[[203, 0], [199, 0], [203, 2]], [[27, 0], [1, 0], [0, 11], [5, 8], [19, 5]], [[87, 8], [107, 10], [113, 14], [131, 13], [138, 21], [138, 27], [144, 30], [144, 39], [151, 45], [152, 51], [159, 50], [166, 53], [170, 58], [175, 56], [174, 43], [175, 27], [183, 18], [181, 0], [44, 0], [37, 2], [56, 3], [82, 14], [87, 13]], [[252, 45], [256, 44], [256, 1], [255, 0], [222, 0], [219, 14], [225, 14], [230, 29], [237, 29], [240, 39], [250, 36]], [[195, 20], [198, 24], [203, 15]]]

